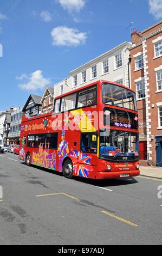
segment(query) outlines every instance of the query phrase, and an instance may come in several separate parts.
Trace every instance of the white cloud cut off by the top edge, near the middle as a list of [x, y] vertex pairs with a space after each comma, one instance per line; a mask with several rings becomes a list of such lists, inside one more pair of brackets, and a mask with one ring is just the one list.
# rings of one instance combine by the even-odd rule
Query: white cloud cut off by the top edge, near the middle
[[69, 13], [73, 11], [79, 12], [85, 5], [86, 0], [57, 0], [63, 9], [67, 9]]

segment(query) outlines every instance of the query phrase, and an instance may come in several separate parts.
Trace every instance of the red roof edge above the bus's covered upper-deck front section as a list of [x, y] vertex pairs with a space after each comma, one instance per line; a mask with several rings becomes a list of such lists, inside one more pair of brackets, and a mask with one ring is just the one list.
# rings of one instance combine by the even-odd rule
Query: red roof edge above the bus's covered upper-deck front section
[[55, 100], [60, 99], [61, 97], [67, 96], [67, 95], [72, 94], [72, 93], [77, 93], [79, 90], [86, 89], [88, 87], [94, 86], [95, 84], [100, 84], [101, 85], [102, 83], [111, 83], [111, 84], [114, 84], [114, 86], [120, 86], [120, 87], [125, 88], [127, 90], [131, 90], [131, 92], [135, 93], [134, 90], [132, 90], [131, 88], [128, 88], [126, 86], [123, 86], [122, 84], [111, 82], [111, 81], [106, 81], [106, 80], [98, 80], [96, 82], [88, 84], [87, 86], [83, 86], [83, 87], [77, 88], [75, 90], [71, 90], [68, 93], [64, 93], [62, 95], [59, 95], [59, 96], [55, 97]]

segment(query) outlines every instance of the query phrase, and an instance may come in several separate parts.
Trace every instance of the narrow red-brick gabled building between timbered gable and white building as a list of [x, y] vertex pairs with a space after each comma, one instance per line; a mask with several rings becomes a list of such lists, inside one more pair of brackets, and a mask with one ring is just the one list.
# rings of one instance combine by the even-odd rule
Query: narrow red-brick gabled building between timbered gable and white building
[[53, 111], [53, 107], [54, 107], [54, 88], [53, 87], [47, 87], [44, 90], [41, 103], [42, 103], [42, 114], [50, 113]]

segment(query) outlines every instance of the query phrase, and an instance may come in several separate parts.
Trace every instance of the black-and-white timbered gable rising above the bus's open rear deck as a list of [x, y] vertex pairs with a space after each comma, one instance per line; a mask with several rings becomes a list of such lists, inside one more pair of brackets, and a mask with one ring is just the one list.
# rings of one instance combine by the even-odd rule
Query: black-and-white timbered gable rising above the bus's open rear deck
[[34, 117], [34, 115], [38, 115], [42, 113], [42, 103], [41, 96], [31, 94], [25, 103], [25, 106], [22, 109], [22, 112], [27, 117]]

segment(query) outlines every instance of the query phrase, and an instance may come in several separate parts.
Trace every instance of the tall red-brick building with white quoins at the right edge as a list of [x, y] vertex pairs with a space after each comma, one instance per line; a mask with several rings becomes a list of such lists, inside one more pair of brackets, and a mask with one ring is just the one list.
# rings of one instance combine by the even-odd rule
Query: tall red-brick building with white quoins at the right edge
[[140, 159], [162, 167], [162, 21], [132, 33], [131, 84], [137, 92]]

